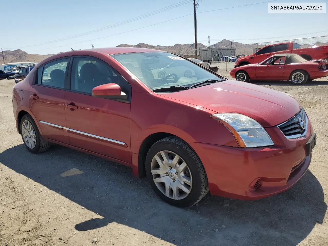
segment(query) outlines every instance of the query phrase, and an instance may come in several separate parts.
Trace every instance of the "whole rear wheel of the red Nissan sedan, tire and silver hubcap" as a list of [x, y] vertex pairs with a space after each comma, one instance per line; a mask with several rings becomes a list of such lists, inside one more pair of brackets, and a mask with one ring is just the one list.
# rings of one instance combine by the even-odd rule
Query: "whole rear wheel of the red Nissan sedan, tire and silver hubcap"
[[[31, 127], [30, 127], [31, 126]], [[49, 149], [50, 142], [43, 139], [31, 115], [25, 114], [20, 121], [20, 130], [25, 147], [36, 154]], [[27, 138], [24, 140], [26, 134]]]

